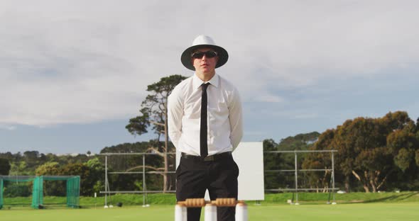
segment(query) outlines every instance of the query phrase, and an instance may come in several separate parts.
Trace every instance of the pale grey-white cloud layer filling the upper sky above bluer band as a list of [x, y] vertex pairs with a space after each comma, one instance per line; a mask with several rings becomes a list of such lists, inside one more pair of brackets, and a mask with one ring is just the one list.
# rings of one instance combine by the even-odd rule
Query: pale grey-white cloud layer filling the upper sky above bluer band
[[[190, 76], [180, 53], [199, 34], [229, 51], [217, 69], [244, 101], [273, 89], [375, 78], [419, 62], [417, 1], [19, 1], [0, 4], [0, 123], [130, 118], [146, 86]], [[302, 114], [304, 116], [304, 113]]]

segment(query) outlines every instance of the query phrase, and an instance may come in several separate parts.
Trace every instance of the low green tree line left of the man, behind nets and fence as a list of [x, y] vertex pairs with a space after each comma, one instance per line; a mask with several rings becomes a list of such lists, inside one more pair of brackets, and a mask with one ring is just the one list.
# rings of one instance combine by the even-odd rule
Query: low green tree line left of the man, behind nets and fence
[[[163, 142], [151, 140], [149, 142], [124, 143], [111, 147], [104, 147], [100, 153], [141, 153], [150, 151], [150, 147], [163, 146]], [[173, 148], [173, 145], [169, 147]], [[173, 148], [174, 149], [174, 148]], [[175, 156], [169, 155], [170, 169], [175, 164]], [[136, 172], [143, 170], [143, 159], [139, 155], [109, 156], [108, 172]], [[147, 155], [146, 172], [158, 171], [164, 168], [162, 157]], [[80, 194], [93, 196], [94, 193], [104, 191], [105, 157], [100, 154], [56, 155], [42, 154], [38, 151], [0, 153], [0, 175], [3, 176], [80, 176]], [[161, 174], [147, 175], [147, 189], [161, 191], [163, 179]], [[109, 174], [109, 186], [112, 191], [142, 191], [142, 175], [138, 174]], [[175, 179], [170, 180], [168, 189], [173, 190]], [[44, 181], [45, 196], [65, 196], [65, 181]], [[31, 182], [6, 181], [4, 195], [31, 196]]]

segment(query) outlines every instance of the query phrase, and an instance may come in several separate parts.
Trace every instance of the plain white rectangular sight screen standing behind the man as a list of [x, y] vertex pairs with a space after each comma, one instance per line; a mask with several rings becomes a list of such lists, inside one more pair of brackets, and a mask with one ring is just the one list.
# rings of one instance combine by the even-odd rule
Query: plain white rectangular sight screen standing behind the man
[[[240, 169], [239, 200], [264, 200], [263, 188], [263, 142], [241, 142], [233, 152], [234, 161]], [[176, 168], [180, 152], [176, 152]], [[208, 191], [205, 198], [209, 200]]]

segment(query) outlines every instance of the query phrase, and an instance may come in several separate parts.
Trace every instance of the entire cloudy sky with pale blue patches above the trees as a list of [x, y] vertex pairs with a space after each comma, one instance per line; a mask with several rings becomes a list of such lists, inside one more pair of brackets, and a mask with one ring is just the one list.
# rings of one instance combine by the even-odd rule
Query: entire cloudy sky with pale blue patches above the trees
[[419, 1], [0, 1], [0, 152], [99, 153], [147, 85], [190, 77], [197, 35], [229, 52], [244, 142], [357, 117], [419, 117]]

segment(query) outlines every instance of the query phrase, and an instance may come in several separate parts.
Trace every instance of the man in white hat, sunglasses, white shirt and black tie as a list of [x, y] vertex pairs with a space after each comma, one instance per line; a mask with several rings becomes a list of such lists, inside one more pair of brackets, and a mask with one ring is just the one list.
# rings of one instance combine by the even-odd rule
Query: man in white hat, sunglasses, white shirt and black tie
[[[239, 167], [232, 151], [243, 135], [237, 89], [215, 73], [228, 60], [227, 50], [200, 35], [181, 56], [195, 71], [168, 98], [169, 137], [182, 152], [176, 169], [176, 198], [237, 198]], [[201, 208], [188, 208], [187, 220], [200, 220]], [[218, 220], [234, 220], [235, 208], [217, 208]]]

